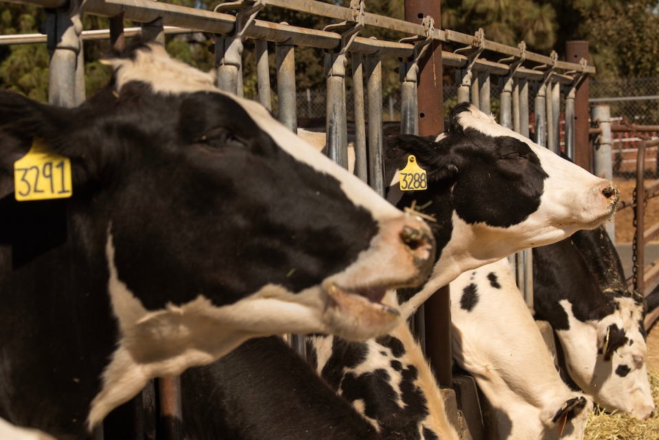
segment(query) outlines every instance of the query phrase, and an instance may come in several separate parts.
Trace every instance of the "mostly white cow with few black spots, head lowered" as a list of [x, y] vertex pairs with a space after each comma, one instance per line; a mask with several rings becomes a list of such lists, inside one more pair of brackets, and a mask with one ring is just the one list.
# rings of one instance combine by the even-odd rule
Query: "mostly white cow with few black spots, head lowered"
[[592, 400], [561, 380], [508, 259], [450, 283], [453, 358], [496, 418], [498, 439], [582, 439]]

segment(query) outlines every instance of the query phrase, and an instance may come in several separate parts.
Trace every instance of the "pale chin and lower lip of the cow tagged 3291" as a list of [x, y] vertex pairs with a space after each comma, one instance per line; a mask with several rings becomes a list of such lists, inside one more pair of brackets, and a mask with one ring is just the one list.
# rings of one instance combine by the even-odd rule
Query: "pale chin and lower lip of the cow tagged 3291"
[[400, 312], [389, 305], [369, 301], [362, 295], [346, 292], [335, 284], [329, 284], [326, 291], [327, 303], [323, 321], [332, 334], [341, 338], [375, 338], [390, 332], [400, 323]]

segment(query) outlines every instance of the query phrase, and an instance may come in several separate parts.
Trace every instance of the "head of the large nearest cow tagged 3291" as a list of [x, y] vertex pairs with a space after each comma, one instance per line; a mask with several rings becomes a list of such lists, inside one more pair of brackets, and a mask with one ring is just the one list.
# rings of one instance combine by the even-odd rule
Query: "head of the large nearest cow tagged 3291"
[[[73, 197], [54, 202], [68, 219], [62, 246], [102, 262], [93, 273], [119, 341], [90, 426], [149, 378], [207, 364], [246, 338], [365, 339], [399, 322], [379, 301], [428, 275], [424, 222], [159, 45], [109, 63], [113, 83], [80, 108], [0, 97], [3, 218], [18, 234], [21, 212], [52, 205], [12, 194], [12, 165], [39, 138], [73, 168]], [[54, 289], [80, 289], [65, 278]]]

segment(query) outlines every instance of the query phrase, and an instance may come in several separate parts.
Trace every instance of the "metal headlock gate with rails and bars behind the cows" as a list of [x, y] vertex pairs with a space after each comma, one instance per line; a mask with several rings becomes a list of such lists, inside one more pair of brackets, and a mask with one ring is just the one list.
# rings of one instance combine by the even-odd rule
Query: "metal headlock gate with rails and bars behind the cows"
[[[588, 73], [594, 73], [595, 69], [587, 64], [586, 42], [568, 42], [566, 59], [574, 62], [564, 62], [558, 60], [555, 52], [544, 56], [527, 51], [523, 42], [518, 47], [494, 43], [485, 38], [483, 30], [478, 30], [473, 36], [441, 30], [440, 2], [437, 0], [405, 0], [406, 21], [371, 14], [367, 12], [363, 0], [351, 0], [349, 8], [312, 0], [241, 0], [221, 3], [214, 11], [150, 0], [5, 1], [47, 8], [47, 36], [0, 36], [0, 44], [47, 42], [51, 50], [49, 102], [54, 105], [72, 107], [84, 100], [82, 41], [109, 37], [115, 48], [121, 48], [125, 36], [138, 32], [134, 28], [124, 30], [123, 21], [130, 20], [142, 23], [139, 32], [160, 43], [164, 43], [167, 33], [194, 30], [216, 34], [214, 49], [218, 87], [237, 95], [242, 95], [243, 90], [242, 40], [255, 40], [258, 96], [268, 109], [271, 105], [267, 42], [276, 43], [278, 117], [294, 132], [297, 132], [294, 46], [325, 49], [327, 154], [343, 167], [347, 167], [345, 77], [347, 56], [350, 56], [356, 119], [356, 174], [382, 196], [385, 185], [382, 161], [382, 57], [400, 59], [402, 133], [432, 135], [443, 130], [442, 69], [450, 66], [456, 69], [458, 102], [471, 102], [489, 113], [492, 108], [490, 84], [494, 76], [500, 84], [500, 124], [528, 137], [532, 112], [533, 139], [557, 153], [561, 150], [559, 116], [564, 112], [565, 152], [578, 165], [591, 170]], [[339, 23], [329, 25], [324, 30], [312, 30], [256, 19], [265, 6], [325, 16]], [[110, 30], [82, 31], [81, 14], [110, 18]], [[404, 32], [408, 37], [400, 41], [386, 41], [358, 36], [365, 26]], [[443, 51], [442, 43], [460, 48], [453, 52]], [[368, 108], [365, 108], [365, 93]], [[371, 122], [368, 128], [366, 115]], [[523, 251], [511, 258], [516, 262], [513, 266], [516, 267], [518, 286], [524, 292], [529, 307], [532, 307], [531, 252]], [[438, 290], [420, 308], [415, 315], [415, 329], [439, 383], [451, 386], [448, 286]], [[290, 339], [303, 355], [303, 337], [293, 336]], [[181, 419], [176, 390], [180, 392], [180, 382], [176, 378], [159, 380], [161, 413], [169, 415], [170, 421]], [[135, 438], [143, 439], [141, 429], [136, 428]], [[165, 432], [167, 439], [176, 439], [179, 435], [180, 426], [176, 426], [175, 422]], [[102, 430], [97, 430], [95, 438], [102, 439]]]

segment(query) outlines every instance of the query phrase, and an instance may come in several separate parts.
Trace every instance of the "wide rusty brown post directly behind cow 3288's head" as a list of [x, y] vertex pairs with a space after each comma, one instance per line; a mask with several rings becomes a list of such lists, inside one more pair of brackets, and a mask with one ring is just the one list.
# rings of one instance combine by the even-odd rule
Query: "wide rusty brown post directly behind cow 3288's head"
[[[441, 3], [427, 0], [405, 0], [405, 20], [421, 23], [432, 16], [435, 26], [441, 23]], [[418, 106], [419, 135], [436, 135], [444, 130], [441, 44], [433, 40], [426, 56], [419, 62]], [[471, 84], [470, 84], [471, 85]], [[469, 100], [467, 89], [467, 100]], [[435, 368], [437, 380], [451, 386], [451, 307], [448, 286], [440, 288], [424, 304], [426, 354]], [[421, 320], [417, 320], [421, 321]]]

